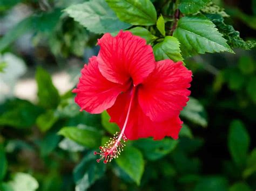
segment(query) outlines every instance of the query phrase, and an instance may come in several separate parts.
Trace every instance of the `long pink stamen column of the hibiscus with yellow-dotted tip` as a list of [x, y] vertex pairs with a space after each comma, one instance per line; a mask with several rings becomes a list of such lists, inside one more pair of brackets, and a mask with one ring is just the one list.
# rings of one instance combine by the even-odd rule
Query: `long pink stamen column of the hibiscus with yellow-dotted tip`
[[104, 159], [104, 163], [106, 164], [107, 162], [111, 162], [111, 160], [114, 158], [118, 158], [118, 155], [120, 154], [121, 151], [123, 151], [123, 147], [125, 146], [125, 142], [127, 140], [127, 138], [124, 135], [124, 131], [130, 116], [130, 112], [131, 112], [131, 107], [132, 107], [132, 101], [134, 98], [134, 94], [136, 91], [136, 87], [132, 88], [132, 95], [131, 95], [131, 100], [129, 103], [129, 108], [125, 117], [125, 122], [122, 128], [122, 131], [116, 132], [116, 134], [114, 134], [113, 138], [110, 138], [110, 140], [104, 145], [104, 146], [100, 146], [99, 150], [100, 152], [94, 152], [94, 154], [99, 154], [100, 158], [97, 159], [97, 162], [99, 162], [100, 160]]

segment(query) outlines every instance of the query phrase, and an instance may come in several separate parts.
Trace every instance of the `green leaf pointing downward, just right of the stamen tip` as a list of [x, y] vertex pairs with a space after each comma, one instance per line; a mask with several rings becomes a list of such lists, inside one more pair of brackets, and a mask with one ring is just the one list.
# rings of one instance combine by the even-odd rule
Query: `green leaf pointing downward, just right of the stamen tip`
[[131, 146], [124, 148], [116, 162], [137, 185], [140, 185], [140, 179], [144, 172], [144, 160], [142, 153], [137, 148]]

